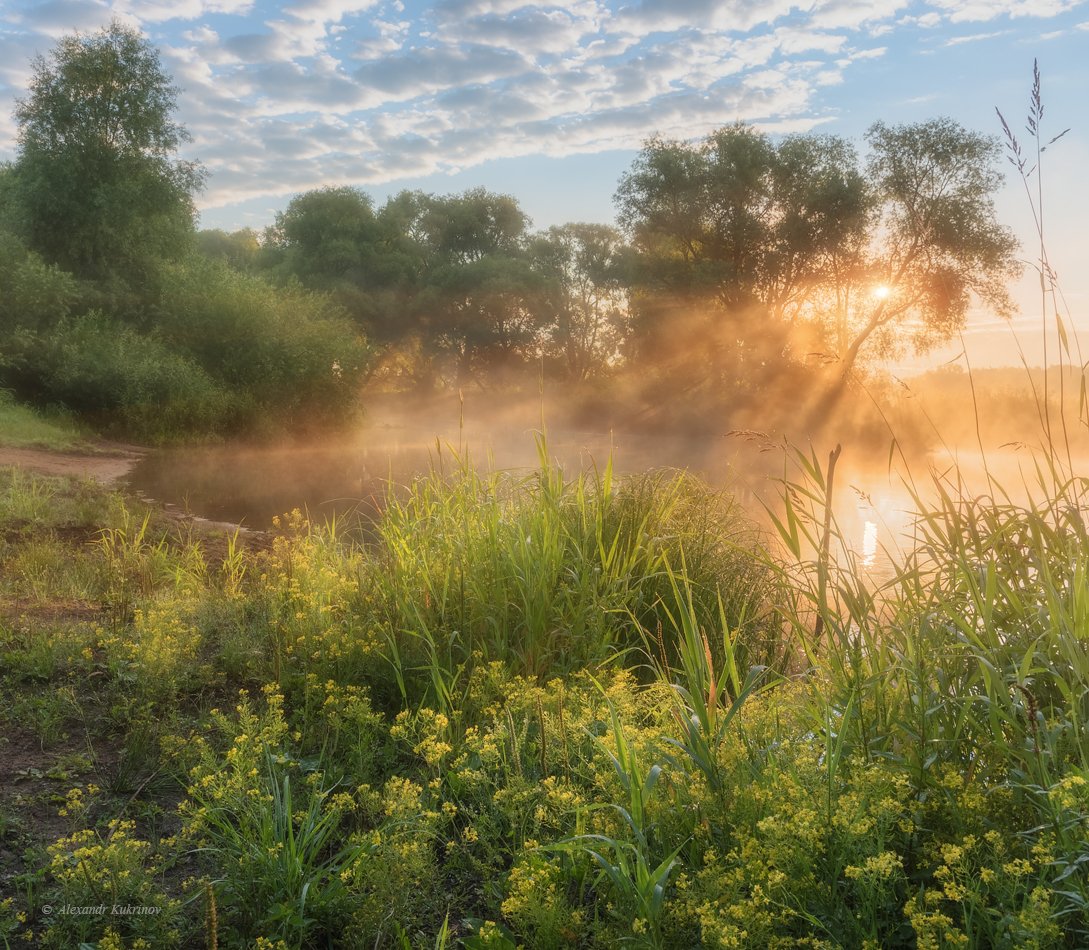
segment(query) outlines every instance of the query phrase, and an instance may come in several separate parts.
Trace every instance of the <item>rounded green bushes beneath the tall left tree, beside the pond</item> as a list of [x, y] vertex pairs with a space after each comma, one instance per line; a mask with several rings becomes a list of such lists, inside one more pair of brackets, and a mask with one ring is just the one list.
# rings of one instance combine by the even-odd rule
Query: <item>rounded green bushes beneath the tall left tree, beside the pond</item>
[[0, 312], [11, 316], [0, 381], [149, 442], [354, 416], [369, 350], [330, 301], [198, 257], [161, 282], [154, 318], [133, 325], [87, 309], [87, 284], [0, 241]]

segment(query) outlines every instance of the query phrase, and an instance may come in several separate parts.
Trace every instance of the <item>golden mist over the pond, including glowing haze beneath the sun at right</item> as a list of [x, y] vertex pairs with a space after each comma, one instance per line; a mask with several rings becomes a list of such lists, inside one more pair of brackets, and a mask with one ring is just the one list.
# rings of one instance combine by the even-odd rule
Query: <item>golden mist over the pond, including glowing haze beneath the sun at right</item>
[[[129, 480], [149, 499], [249, 529], [265, 531], [276, 515], [297, 508], [314, 522], [335, 516], [346, 529], [365, 532], [391, 487], [435, 467], [453, 472], [458, 460], [468, 460], [478, 468], [529, 475], [539, 467], [543, 431], [550, 460], [568, 477], [601, 471], [610, 460], [620, 475], [686, 471], [730, 492], [772, 535], [766, 510], [782, 511], [784, 478], [803, 480], [797, 453], [827, 471], [830, 451], [842, 443], [833, 491], [842, 543], [833, 545], [832, 555], [840, 563], [854, 560], [880, 583], [915, 544], [913, 492], [934, 499], [935, 479], [954, 495], [999, 503], [1024, 503], [1039, 495], [1032, 491], [1037, 474], [1029, 448], [1040, 439], [1036, 414], [1005, 376], [1000, 381], [995, 397], [981, 398], [975, 411], [965, 409], [956, 388], [965, 383], [957, 377], [916, 387], [908, 404], [931, 427], [928, 442], [906, 437], [920, 427], [918, 418], [913, 426], [905, 415], [884, 431], [871, 427], [865, 434], [857, 424], [833, 421], [810, 440], [734, 429], [730, 426], [737, 419], [725, 417], [708, 416], [694, 430], [673, 421], [672, 406], [659, 407], [652, 419], [640, 413], [609, 418], [607, 413], [542, 413], [539, 398], [476, 393], [465, 402], [449, 395], [425, 404], [376, 399], [367, 418], [343, 435], [291, 446], [229, 443], [152, 452]], [[988, 385], [986, 374], [981, 382]], [[925, 398], [916, 401], [923, 391], [931, 394], [929, 405]], [[790, 413], [780, 407], [775, 415], [783, 419]], [[1069, 464], [1073, 471], [1089, 471], [1080, 434], [1075, 441]]]

